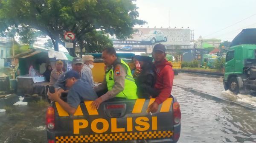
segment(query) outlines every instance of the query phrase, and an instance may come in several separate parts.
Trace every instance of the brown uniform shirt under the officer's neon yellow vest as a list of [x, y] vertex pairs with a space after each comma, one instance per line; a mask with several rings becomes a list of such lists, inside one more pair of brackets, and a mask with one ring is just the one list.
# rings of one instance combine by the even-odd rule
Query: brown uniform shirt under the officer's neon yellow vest
[[[113, 67], [108, 67], [113, 68]], [[102, 98], [102, 101], [106, 101], [110, 98], [114, 98], [118, 93], [122, 92], [125, 87], [125, 76], [127, 75], [128, 70], [126, 67], [122, 64], [116, 64], [115, 68], [113, 69], [113, 80], [115, 81], [115, 84], [113, 85], [112, 90], [108, 91], [104, 95], [102, 95], [100, 98]], [[106, 78], [106, 77], [105, 77]], [[96, 92], [100, 90], [104, 90], [107, 88], [107, 82], [104, 78], [102, 84], [99, 84], [97, 87], [94, 88]]]

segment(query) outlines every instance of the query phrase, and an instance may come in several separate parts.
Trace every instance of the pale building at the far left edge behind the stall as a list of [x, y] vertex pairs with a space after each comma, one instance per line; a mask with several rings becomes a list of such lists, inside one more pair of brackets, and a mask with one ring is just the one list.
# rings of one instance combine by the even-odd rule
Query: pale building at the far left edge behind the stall
[[6, 38], [0, 38], [0, 68], [5, 67], [4, 59], [11, 56], [10, 52], [10, 48], [6, 44]]

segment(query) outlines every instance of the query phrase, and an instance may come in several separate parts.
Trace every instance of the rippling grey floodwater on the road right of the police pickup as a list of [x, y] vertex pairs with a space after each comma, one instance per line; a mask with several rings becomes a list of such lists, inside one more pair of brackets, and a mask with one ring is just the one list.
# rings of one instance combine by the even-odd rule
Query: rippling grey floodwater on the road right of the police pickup
[[[218, 97], [253, 103], [250, 95], [224, 91], [222, 78], [179, 73], [174, 84]], [[208, 100], [173, 87], [181, 108], [181, 135], [178, 143], [256, 143], [256, 111]], [[247, 100], [247, 101], [246, 101]]]

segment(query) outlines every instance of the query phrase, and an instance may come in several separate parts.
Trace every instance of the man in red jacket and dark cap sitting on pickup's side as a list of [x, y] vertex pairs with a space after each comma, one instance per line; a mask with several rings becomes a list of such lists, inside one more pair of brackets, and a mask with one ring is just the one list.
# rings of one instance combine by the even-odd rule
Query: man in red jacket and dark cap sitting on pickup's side
[[174, 72], [172, 70], [172, 64], [166, 60], [166, 48], [164, 45], [155, 45], [152, 57], [154, 58], [157, 76], [154, 88], [157, 90], [158, 95], [156, 100], [148, 107], [148, 111], [157, 112], [158, 106], [171, 95]]

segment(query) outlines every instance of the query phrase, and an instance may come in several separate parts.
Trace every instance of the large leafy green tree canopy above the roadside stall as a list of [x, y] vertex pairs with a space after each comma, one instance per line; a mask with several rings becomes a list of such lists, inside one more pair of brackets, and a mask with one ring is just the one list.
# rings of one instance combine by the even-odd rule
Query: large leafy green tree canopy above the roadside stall
[[[58, 43], [65, 45], [66, 31], [76, 34], [74, 46], [87, 42], [87, 33], [96, 29], [126, 39], [133, 33], [134, 25], [145, 23], [137, 19], [139, 13], [133, 1], [1, 0], [0, 32], [9, 27], [29, 26], [49, 36], [56, 51]], [[74, 48], [70, 54], [75, 56]]]

